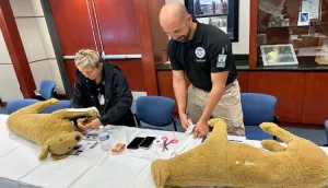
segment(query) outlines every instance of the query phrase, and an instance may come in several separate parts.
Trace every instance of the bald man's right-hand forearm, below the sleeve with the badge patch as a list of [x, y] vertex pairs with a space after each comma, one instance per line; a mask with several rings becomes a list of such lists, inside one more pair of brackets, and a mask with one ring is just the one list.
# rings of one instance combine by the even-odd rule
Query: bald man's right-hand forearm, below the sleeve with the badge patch
[[213, 85], [206, 108], [200, 117], [200, 121], [207, 122], [210, 119], [215, 106], [224, 93], [224, 90], [225, 85]]

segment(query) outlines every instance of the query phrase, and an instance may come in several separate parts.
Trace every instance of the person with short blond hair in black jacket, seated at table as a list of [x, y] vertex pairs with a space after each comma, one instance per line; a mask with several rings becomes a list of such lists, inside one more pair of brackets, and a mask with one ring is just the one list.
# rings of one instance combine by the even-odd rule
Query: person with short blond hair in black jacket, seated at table
[[136, 126], [130, 109], [132, 93], [118, 67], [101, 60], [99, 55], [91, 49], [77, 52], [74, 61], [78, 70], [72, 107], [95, 106], [101, 114], [86, 125], [83, 118], [79, 118], [77, 126], [82, 130], [97, 129], [101, 125]]

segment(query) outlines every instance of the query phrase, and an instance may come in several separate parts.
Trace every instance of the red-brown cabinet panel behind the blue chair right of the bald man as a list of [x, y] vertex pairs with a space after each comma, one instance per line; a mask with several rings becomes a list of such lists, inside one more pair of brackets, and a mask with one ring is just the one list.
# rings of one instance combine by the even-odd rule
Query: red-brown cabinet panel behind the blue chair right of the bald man
[[273, 95], [281, 121], [301, 122], [305, 73], [248, 72], [248, 92]]

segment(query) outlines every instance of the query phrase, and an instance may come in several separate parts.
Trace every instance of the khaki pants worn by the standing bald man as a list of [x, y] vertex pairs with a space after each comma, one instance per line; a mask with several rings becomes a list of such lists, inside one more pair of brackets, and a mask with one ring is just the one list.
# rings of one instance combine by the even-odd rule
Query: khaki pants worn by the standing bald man
[[[187, 116], [192, 119], [194, 124], [200, 119], [209, 95], [209, 92], [199, 90], [194, 85], [188, 87]], [[220, 117], [224, 119], [227, 134], [245, 136], [241, 89], [237, 80], [225, 86], [225, 91], [214, 108], [212, 117]]]

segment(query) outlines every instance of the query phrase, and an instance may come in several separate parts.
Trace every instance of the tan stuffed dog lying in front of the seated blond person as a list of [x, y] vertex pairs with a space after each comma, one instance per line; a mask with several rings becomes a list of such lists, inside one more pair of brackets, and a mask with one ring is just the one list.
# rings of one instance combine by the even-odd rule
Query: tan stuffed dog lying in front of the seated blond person
[[45, 160], [48, 153], [51, 153], [54, 160], [67, 157], [68, 152], [83, 138], [83, 134], [75, 130], [69, 119], [79, 116], [93, 118], [97, 116], [95, 110], [73, 113], [67, 109], [59, 109], [51, 114], [38, 114], [47, 106], [56, 104], [58, 104], [58, 99], [55, 98], [39, 102], [19, 109], [7, 120], [8, 128], [12, 132], [42, 145], [39, 160]]

